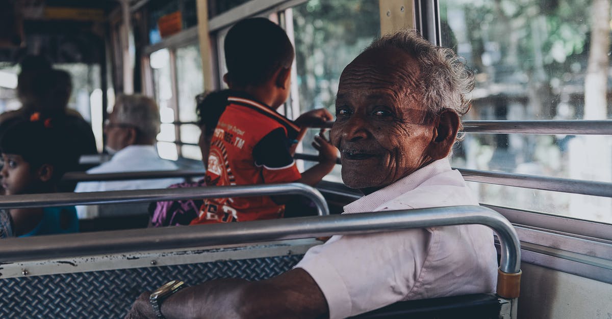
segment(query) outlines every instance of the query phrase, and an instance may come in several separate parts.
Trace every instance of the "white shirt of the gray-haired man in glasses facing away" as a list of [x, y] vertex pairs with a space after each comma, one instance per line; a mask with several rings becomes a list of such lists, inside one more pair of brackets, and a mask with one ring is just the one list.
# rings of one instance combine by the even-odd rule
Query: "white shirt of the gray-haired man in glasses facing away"
[[[157, 154], [153, 145], [130, 145], [115, 153], [110, 161], [89, 169], [88, 174], [141, 172], [141, 171], [172, 171], [177, 169], [172, 161], [163, 160]], [[157, 189], [166, 188], [172, 184], [183, 182], [182, 178], [159, 178], [147, 180], [119, 180], [109, 182], [81, 182], [76, 185], [75, 193], [119, 191], [127, 189]], [[86, 212], [92, 206], [77, 206], [79, 218], [92, 218], [92, 213]]]

